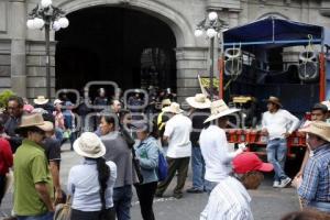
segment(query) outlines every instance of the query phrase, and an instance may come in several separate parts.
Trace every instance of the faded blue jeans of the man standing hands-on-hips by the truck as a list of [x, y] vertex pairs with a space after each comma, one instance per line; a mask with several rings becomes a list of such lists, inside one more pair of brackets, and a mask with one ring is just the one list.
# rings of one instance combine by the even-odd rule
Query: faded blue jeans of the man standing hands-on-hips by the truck
[[287, 178], [287, 175], [284, 172], [286, 153], [287, 153], [287, 143], [285, 139], [275, 139], [270, 140], [267, 144], [267, 160], [274, 166], [274, 180], [280, 182], [282, 179]]

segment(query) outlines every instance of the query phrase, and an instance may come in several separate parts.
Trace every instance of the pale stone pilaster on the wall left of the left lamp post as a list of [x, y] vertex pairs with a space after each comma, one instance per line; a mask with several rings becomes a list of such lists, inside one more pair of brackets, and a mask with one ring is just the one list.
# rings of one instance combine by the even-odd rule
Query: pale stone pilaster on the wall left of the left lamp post
[[26, 97], [25, 10], [25, 0], [11, 1], [11, 87], [22, 97]]

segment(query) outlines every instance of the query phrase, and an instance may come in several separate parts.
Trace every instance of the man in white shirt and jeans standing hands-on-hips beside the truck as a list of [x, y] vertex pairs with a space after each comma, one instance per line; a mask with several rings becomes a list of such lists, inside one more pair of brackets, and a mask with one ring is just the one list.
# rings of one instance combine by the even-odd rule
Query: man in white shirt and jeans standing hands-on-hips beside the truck
[[274, 165], [273, 187], [286, 187], [292, 178], [284, 172], [287, 138], [297, 129], [299, 120], [290, 112], [280, 109], [282, 103], [278, 98], [270, 97], [267, 100], [268, 111], [263, 113], [262, 133], [268, 136], [267, 160]]

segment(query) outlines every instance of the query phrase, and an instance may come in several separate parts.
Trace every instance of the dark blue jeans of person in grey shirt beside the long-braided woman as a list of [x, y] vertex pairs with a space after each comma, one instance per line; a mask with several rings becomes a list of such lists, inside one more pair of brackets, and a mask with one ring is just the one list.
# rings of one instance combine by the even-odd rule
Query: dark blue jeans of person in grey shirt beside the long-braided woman
[[131, 185], [113, 188], [113, 204], [118, 220], [131, 219], [130, 210], [132, 207], [132, 197], [133, 191]]

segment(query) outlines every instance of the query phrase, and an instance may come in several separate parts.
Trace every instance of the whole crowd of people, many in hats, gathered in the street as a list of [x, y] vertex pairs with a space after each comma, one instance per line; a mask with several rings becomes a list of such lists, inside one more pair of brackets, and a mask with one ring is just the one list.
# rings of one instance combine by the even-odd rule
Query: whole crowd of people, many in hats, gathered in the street
[[[78, 105], [66, 96], [52, 103], [40, 96], [34, 106], [21, 97], [10, 97], [7, 113], [0, 117], [0, 202], [13, 170], [12, 218], [51, 220], [56, 205], [70, 199], [73, 220], [129, 220], [135, 188], [142, 218], [154, 220], [154, 197], [163, 197], [177, 176], [173, 196], [183, 198], [191, 163], [193, 186], [187, 193], [209, 195], [200, 220], [253, 219], [246, 189], [256, 189], [263, 173], [272, 170], [273, 187], [284, 188], [292, 183], [307, 213], [327, 218], [330, 213], [328, 102], [316, 103], [311, 121], [301, 124], [283, 109], [278, 98], [270, 97], [262, 117], [262, 133], [268, 140], [268, 163], [246, 152], [244, 145], [229, 150], [226, 134], [229, 116], [240, 109], [229, 108], [223, 100], [211, 101], [202, 94], [187, 98], [186, 102], [189, 111], [184, 111], [173, 96], [162, 95], [142, 108], [143, 97], [139, 91], [125, 101], [110, 99], [105, 89], [99, 89], [94, 105], [100, 108], [94, 110], [94, 125], [86, 131], [77, 127], [75, 106]], [[86, 113], [81, 117], [91, 112], [86, 106], [81, 109]], [[156, 117], [147, 118], [145, 113], [150, 112]], [[307, 151], [299, 173], [292, 179], [284, 169], [286, 139], [296, 130], [307, 135]], [[66, 140], [84, 160], [70, 168], [64, 189], [59, 169], [61, 146]], [[164, 155], [167, 164], [161, 164]], [[166, 167], [166, 176], [162, 178], [161, 166]], [[292, 213], [284, 219], [299, 219], [299, 216]]]

